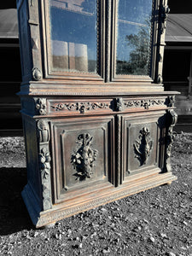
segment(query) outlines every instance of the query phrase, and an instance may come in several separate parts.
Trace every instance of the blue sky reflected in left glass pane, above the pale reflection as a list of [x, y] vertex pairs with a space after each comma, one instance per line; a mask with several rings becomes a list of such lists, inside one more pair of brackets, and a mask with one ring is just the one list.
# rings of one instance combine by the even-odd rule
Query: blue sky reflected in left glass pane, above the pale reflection
[[49, 3], [51, 40], [87, 45], [88, 62], [96, 66], [96, 0], [49, 0]]

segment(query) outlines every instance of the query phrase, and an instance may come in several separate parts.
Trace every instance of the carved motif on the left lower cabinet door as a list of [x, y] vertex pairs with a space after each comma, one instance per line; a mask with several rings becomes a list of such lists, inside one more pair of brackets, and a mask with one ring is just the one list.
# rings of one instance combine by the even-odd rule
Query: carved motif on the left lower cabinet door
[[72, 164], [77, 173], [74, 176], [79, 181], [92, 177], [94, 162], [98, 151], [90, 147], [93, 137], [89, 133], [80, 134], [78, 141], [79, 148], [72, 155]]

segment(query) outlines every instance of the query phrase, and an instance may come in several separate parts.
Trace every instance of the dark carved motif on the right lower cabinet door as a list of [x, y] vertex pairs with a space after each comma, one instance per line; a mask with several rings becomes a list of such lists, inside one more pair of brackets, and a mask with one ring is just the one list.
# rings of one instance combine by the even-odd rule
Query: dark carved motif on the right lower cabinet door
[[139, 140], [133, 144], [136, 158], [140, 161], [140, 166], [146, 164], [153, 146], [150, 138], [150, 132], [147, 127], [143, 127], [140, 131]]

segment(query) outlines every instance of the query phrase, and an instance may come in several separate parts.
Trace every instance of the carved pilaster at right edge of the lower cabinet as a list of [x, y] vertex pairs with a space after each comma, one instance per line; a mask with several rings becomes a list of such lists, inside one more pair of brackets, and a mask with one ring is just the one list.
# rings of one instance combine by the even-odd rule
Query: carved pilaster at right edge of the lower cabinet
[[173, 127], [177, 123], [177, 113], [175, 113], [174, 110], [169, 110], [166, 113], [166, 140], [165, 140], [165, 146], [166, 146], [166, 154], [165, 154], [165, 166], [164, 166], [164, 172], [172, 172], [172, 166], [171, 166], [171, 149], [172, 149], [172, 143], [174, 140], [174, 133], [173, 133]]

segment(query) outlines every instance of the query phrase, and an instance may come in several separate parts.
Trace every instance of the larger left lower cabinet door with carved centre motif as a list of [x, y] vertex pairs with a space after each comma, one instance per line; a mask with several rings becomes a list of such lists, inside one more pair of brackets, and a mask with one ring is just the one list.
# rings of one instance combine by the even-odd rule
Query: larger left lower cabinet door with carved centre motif
[[55, 202], [113, 183], [113, 117], [51, 122]]

